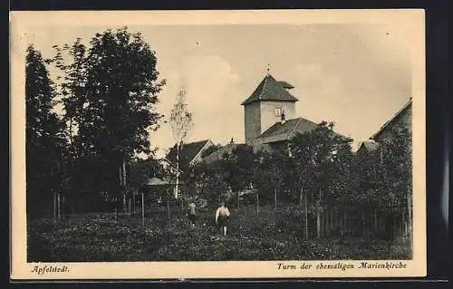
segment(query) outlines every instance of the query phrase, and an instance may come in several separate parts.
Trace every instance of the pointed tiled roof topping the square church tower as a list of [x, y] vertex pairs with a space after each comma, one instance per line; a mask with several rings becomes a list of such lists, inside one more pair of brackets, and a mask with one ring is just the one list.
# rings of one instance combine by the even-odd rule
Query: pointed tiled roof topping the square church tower
[[266, 74], [263, 81], [261, 81], [255, 89], [255, 92], [250, 95], [242, 105], [254, 101], [299, 101], [286, 89], [294, 88], [288, 82], [277, 82], [271, 74]]

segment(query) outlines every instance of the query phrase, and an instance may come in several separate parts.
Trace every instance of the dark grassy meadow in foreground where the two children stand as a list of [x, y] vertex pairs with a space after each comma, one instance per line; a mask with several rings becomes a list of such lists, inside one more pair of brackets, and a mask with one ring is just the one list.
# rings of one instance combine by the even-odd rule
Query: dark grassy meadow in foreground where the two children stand
[[28, 262], [217, 261], [408, 259], [403, 241], [359, 238], [312, 238], [304, 241], [300, 217], [291, 209], [231, 209], [231, 226], [221, 236], [214, 209], [199, 212], [188, 225], [177, 209], [170, 221], [165, 208], [137, 216], [87, 214], [57, 221], [30, 220]]

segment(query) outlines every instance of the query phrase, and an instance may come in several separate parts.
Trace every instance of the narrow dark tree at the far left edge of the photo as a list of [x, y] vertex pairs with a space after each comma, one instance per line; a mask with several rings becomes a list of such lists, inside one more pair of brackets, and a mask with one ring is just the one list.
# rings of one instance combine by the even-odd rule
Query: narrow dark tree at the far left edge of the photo
[[53, 111], [53, 82], [42, 54], [33, 45], [27, 48], [25, 63], [25, 153], [27, 211], [40, 213], [47, 201], [63, 187], [64, 125]]

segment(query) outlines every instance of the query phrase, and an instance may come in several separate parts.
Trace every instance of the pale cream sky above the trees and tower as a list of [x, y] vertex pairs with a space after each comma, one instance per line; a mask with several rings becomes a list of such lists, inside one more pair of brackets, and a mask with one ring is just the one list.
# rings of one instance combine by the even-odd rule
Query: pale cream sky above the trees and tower
[[[53, 56], [54, 44], [88, 42], [105, 29], [83, 25], [68, 29], [31, 27], [28, 43]], [[411, 96], [411, 65], [404, 24], [221, 24], [128, 25], [156, 52], [166, 86], [157, 111], [168, 119], [178, 88], [188, 87], [188, 109], [195, 129], [189, 141], [244, 142], [241, 102], [265, 77], [294, 85], [296, 116], [333, 121], [334, 130], [352, 137], [353, 149]], [[51, 71], [51, 76], [53, 76]], [[158, 155], [174, 144], [169, 123], [150, 134]]]

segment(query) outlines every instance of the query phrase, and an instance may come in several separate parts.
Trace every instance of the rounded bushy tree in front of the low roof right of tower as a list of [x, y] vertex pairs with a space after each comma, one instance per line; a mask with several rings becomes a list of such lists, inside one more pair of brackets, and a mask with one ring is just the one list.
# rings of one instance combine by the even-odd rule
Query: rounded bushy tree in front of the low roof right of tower
[[[333, 123], [321, 122], [314, 130], [296, 135], [289, 143], [294, 180], [304, 193], [305, 237], [308, 237], [308, 202], [316, 213], [316, 232], [321, 236], [321, 216], [327, 197], [342, 199], [350, 192], [352, 162], [350, 142], [333, 131]], [[301, 202], [302, 203], [302, 202]]]

